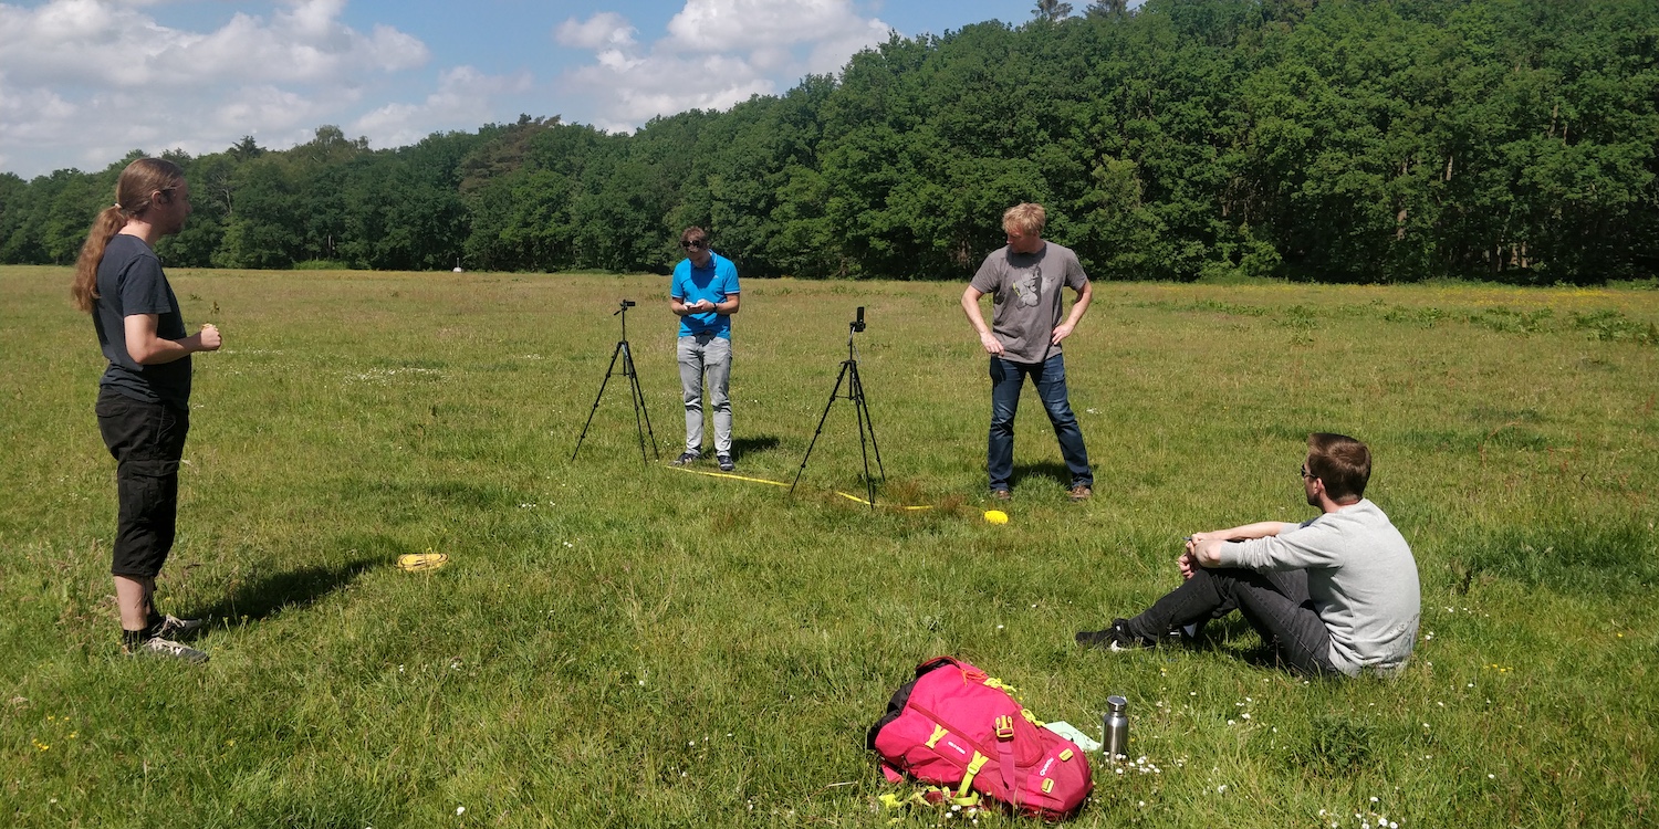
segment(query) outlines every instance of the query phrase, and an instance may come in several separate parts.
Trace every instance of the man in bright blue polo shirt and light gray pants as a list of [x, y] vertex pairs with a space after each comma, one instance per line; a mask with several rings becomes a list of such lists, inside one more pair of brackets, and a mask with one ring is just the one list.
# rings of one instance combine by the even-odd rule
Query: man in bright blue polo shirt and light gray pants
[[674, 267], [669, 310], [680, 318], [680, 390], [685, 395], [685, 451], [674, 466], [703, 456], [703, 376], [708, 378], [715, 411], [715, 459], [720, 469], [737, 469], [732, 461], [732, 315], [738, 308], [737, 265], [708, 249], [708, 232], [692, 225], [680, 234], [685, 259]]

